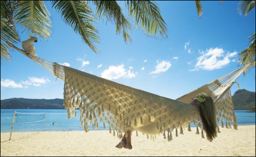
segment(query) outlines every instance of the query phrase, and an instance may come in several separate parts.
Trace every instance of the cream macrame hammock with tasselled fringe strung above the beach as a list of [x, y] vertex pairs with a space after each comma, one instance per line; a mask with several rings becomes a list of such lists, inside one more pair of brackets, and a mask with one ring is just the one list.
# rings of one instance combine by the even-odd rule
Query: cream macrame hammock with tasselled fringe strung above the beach
[[[234, 115], [230, 87], [236, 79], [248, 68], [248, 65], [235, 70], [219, 79], [192, 91], [176, 100], [161, 97], [139, 89], [106, 80], [76, 69], [49, 62], [12, 46], [20, 53], [26, 55], [37, 64], [41, 65], [57, 78], [65, 81], [63, 105], [68, 110], [68, 118], [77, 115], [80, 110], [80, 122], [86, 132], [89, 126], [99, 128], [99, 122], [109, 124], [110, 133], [122, 138], [122, 133], [127, 130], [136, 130], [151, 136], [163, 133], [164, 139], [172, 140], [172, 132], [178, 129], [183, 134], [183, 128], [194, 123], [197, 134], [203, 126], [198, 107], [190, 105], [191, 98], [200, 93], [208, 94], [216, 107], [217, 124], [221, 121], [222, 127], [237, 129], [237, 119]], [[56, 79], [57, 79], [56, 78]], [[239, 86], [239, 84], [238, 84]], [[231, 124], [231, 125], [230, 125]], [[217, 126], [218, 132], [220, 132]]]

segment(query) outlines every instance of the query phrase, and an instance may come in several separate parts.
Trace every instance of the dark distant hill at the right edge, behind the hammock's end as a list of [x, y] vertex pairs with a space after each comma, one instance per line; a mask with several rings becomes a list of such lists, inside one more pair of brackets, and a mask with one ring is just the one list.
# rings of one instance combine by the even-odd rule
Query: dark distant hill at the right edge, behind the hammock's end
[[254, 110], [255, 112], [255, 92], [240, 89], [232, 96], [234, 109]]

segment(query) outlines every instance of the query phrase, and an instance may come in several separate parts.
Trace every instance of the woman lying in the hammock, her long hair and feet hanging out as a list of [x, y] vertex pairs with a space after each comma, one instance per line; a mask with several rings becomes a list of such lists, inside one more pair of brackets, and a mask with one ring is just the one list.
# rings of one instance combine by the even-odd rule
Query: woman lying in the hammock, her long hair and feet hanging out
[[[214, 101], [207, 94], [199, 94], [191, 99], [191, 105], [199, 108], [203, 129], [206, 132], [208, 141], [214, 140], [217, 137], [217, 122], [215, 114]], [[116, 145], [116, 148], [132, 149], [131, 130], [126, 131], [122, 140]]]

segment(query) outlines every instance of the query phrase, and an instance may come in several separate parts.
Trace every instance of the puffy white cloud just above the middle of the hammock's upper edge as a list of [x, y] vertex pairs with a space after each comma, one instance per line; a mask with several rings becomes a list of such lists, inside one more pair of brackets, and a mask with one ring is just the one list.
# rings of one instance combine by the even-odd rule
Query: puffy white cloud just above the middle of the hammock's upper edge
[[134, 78], [135, 74], [133, 71], [133, 67], [129, 66], [129, 69], [124, 69], [124, 65], [111, 65], [109, 69], [104, 70], [101, 73], [101, 77], [109, 80], [119, 79], [119, 78]]

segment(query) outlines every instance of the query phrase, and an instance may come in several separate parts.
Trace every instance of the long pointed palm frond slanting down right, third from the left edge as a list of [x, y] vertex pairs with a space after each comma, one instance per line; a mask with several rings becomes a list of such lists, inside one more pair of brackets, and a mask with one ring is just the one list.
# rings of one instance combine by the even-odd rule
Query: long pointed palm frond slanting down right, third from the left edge
[[95, 43], [99, 43], [97, 29], [91, 24], [95, 21], [88, 3], [84, 1], [52, 1], [52, 6], [61, 12], [66, 24], [70, 25], [82, 40], [94, 51], [98, 52]]

